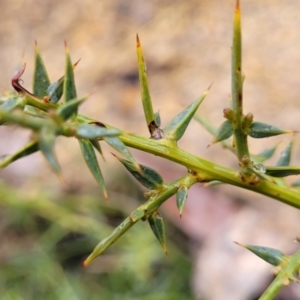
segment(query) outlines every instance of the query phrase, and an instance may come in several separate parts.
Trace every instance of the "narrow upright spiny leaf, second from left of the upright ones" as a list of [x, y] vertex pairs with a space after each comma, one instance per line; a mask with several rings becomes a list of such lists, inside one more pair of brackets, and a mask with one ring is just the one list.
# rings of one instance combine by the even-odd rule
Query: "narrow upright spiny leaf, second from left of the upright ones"
[[77, 98], [76, 87], [75, 87], [75, 79], [73, 72], [73, 65], [71, 62], [71, 57], [69, 53], [69, 48], [65, 44], [66, 51], [66, 66], [65, 66], [65, 79], [64, 79], [64, 100], [68, 102], [72, 99]]

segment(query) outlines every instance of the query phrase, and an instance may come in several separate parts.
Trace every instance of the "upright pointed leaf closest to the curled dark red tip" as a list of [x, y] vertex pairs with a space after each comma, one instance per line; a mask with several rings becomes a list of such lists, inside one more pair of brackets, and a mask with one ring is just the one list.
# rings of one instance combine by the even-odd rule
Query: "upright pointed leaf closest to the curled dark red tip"
[[39, 98], [47, 95], [47, 89], [50, 85], [48, 73], [44, 61], [40, 55], [39, 48], [35, 42], [35, 68], [33, 74], [33, 93]]

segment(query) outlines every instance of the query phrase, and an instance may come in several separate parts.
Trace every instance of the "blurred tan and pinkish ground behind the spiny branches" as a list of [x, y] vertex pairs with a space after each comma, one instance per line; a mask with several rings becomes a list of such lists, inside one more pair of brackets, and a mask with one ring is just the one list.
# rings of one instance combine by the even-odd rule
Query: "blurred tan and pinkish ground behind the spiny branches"
[[[81, 112], [147, 136], [136, 64], [138, 33], [153, 104], [160, 111], [162, 125], [213, 82], [199, 114], [217, 126], [222, 122], [223, 108], [229, 106], [234, 5], [234, 0], [2, 0], [0, 90], [4, 93], [10, 89], [10, 78], [22, 53], [27, 63], [24, 86], [30, 90], [35, 40], [51, 80], [58, 79], [64, 70], [66, 40], [73, 60], [82, 59], [75, 72], [78, 94], [93, 92]], [[245, 112], [252, 112], [255, 120], [298, 130], [300, 2], [243, 0], [241, 8]], [[27, 139], [27, 132], [0, 128], [0, 155], [18, 149]], [[278, 157], [290, 139], [251, 140], [251, 152], [279, 143]], [[236, 167], [234, 157], [219, 145], [206, 148], [210, 140], [211, 136], [193, 122], [180, 145], [201, 157]], [[107, 181], [113, 182], [114, 174], [105, 172], [108, 166], [116, 165], [109, 151], [106, 149], [103, 168]], [[300, 162], [298, 151], [296, 140], [293, 164]], [[70, 185], [95, 185], [74, 141], [59, 139], [57, 152]], [[166, 181], [184, 172], [134, 153], [140, 162], [155, 166]], [[271, 160], [274, 162], [276, 159]], [[23, 188], [33, 187], [39, 178], [41, 185], [61, 188], [39, 154], [2, 170], [0, 178]], [[193, 279], [196, 298], [201, 294], [203, 299], [246, 299], [253, 286], [260, 290], [268, 282], [270, 267], [232, 241], [284, 251], [296, 247], [292, 242], [298, 234], [300, 214], [296, 209], [231, 187], [195, 188], [189, 200], [181, 221], [172, 204], [165, 206], [164, 213], [192, 240], [203, 243], [199, 249], [191, 246], [197, 262]]]

